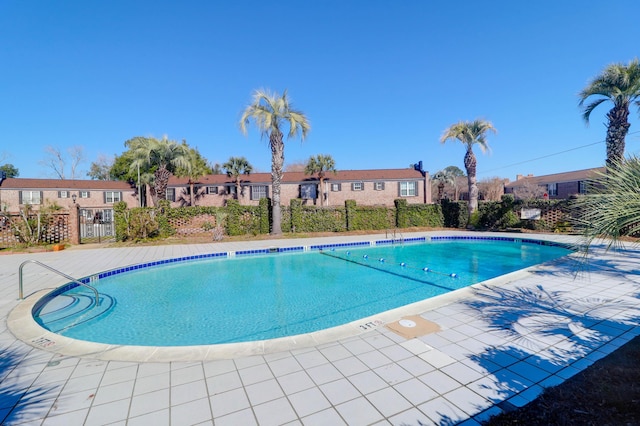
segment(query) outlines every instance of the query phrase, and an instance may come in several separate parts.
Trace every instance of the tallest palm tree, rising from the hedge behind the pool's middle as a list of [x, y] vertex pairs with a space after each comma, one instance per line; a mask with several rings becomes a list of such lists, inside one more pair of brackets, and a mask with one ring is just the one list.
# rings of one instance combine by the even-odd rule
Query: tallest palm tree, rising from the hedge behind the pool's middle
[[253, 101], [249, 104], [240, 118], [240, 130], [247, 133], [247, 125], [253, 120], [262, 136], [269, 137], [271, 148], [271, 184], [273, 188], [271, 233], [282, 234], [282, 215], [280, 208], [280, 183], [282, 182], [282, 167], [284, 165], [283, 127], [288, 126], [288, 137], [301, 134], [304, 140], [311, 129], [307, 117], [300, 111], [294, 110], [285, 90], [282, 96], [264, 90], [256, 90]]

